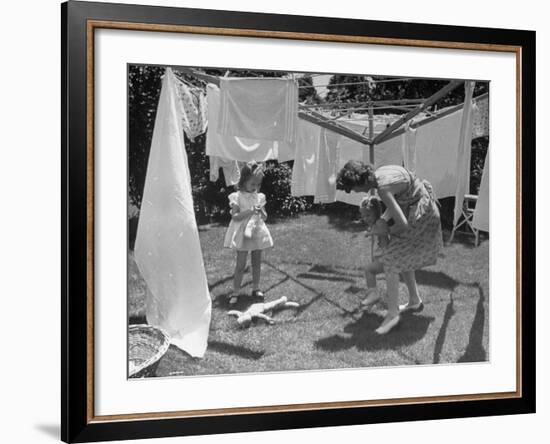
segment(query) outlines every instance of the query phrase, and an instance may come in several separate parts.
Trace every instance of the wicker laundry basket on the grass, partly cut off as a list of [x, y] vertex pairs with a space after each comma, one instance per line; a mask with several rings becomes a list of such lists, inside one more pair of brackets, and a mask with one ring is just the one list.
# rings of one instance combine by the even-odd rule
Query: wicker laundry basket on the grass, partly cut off
[[138, 324], [128, 329], [128, 374], [130, 378], [155, 376], [160, 359], [170, 346], [170, 337], [157, 327]]

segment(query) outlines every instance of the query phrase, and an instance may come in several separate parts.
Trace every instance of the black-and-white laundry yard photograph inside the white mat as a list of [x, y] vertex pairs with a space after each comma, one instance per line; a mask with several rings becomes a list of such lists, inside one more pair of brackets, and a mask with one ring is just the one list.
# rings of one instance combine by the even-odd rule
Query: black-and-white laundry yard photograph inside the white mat
[[127, 73], [128, 377], [489, 361], [489, 81]]

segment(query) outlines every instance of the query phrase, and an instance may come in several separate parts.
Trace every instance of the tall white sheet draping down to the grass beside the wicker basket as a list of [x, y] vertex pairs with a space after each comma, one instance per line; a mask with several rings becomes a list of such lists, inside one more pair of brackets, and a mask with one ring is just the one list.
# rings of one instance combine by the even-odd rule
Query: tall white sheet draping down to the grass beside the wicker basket
[[175, 77], [167, 69], [153, 130], [135, 244], [146, 316], [191, 356], [206, 351], [211, 299], [193, 210]]

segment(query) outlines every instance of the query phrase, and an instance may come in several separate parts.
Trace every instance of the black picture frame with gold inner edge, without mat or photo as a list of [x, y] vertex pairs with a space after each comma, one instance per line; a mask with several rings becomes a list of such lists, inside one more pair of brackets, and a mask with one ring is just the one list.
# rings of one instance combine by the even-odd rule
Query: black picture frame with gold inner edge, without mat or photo
[[[535, 33], [70, 1], [62, 4], [62, 415], [65, 442], [535, 411]], [[516, 55], [517, 389], [133, 415], [94, 414], [94, 32], [97, 29], [471, 49]], [[512, 242], [512, 240], [511, 240]]]

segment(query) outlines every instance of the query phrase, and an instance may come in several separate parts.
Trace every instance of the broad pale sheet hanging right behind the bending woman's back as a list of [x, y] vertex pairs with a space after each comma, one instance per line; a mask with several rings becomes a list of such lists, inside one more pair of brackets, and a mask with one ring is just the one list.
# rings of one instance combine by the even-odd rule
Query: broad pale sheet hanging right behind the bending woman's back
[[416, 128], [416, 176], [432, 185], [438, 199], [455, 195], [462, 110]]

